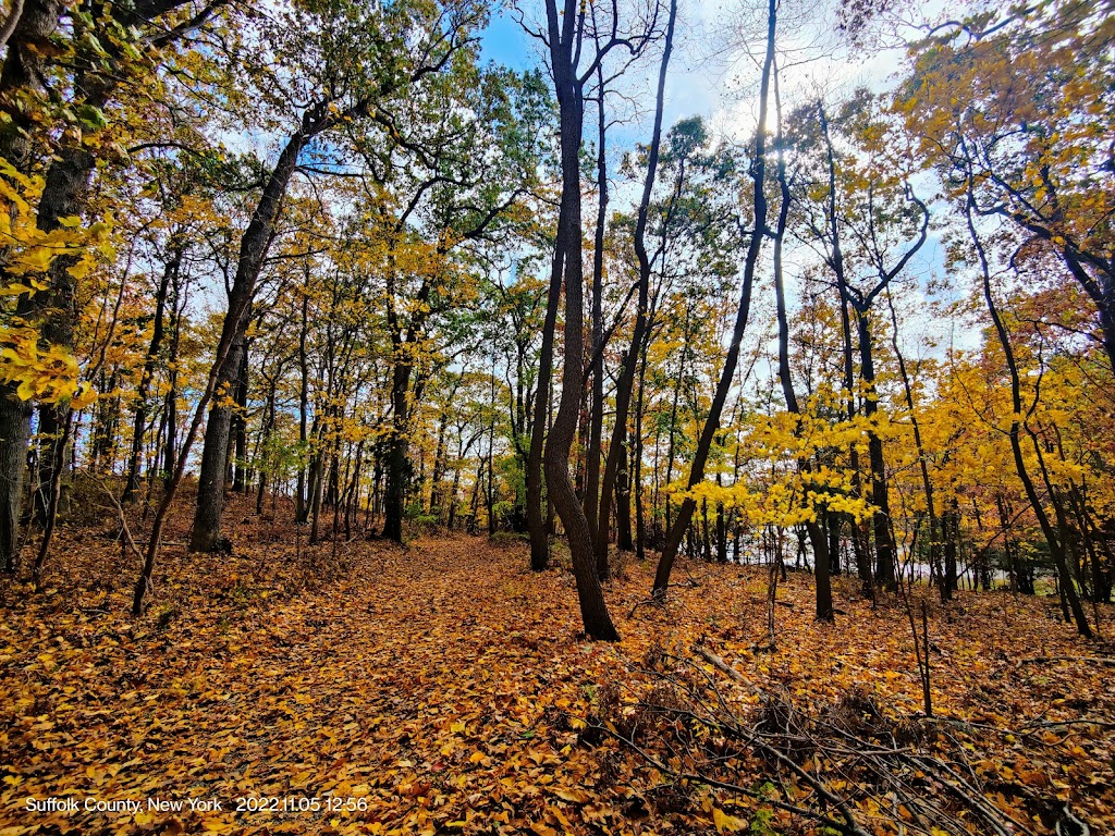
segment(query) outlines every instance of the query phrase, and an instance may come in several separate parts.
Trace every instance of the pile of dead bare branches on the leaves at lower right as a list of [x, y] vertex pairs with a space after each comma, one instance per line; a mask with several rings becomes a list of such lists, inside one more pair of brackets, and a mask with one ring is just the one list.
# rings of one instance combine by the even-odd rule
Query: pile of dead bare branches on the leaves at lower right
[[992, 803], [947, 723], [896, 719], [859, 688], [798, 704], [786, 690], [748, 688], [707, 649], [694, 654], [648, 657], [653, 689], [634, 706], [602, 700], [586, 730], [637, 752], [673, 795], [711, 788], [753, 814], [788, 816], [796, 832], [1035, 833]]

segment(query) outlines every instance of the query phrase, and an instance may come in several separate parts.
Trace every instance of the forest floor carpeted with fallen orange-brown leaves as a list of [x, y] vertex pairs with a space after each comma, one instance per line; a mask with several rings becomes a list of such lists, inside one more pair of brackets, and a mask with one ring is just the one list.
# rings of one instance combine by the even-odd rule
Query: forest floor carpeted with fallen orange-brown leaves
[[608, 644], [560, 550], [309, 548], [235, 498], [198, 556], [187, 516], [139, 619], [112, 513], [0, 587], [0, 834], [1115, 830], [1115, 653], [1051, 599], [927, 594], [927, 719], [905, 607], [851, 580], [820, 624], [789, 573], [770, 649], [764, 570], [682, 563], [661, 607], [628, 561]]

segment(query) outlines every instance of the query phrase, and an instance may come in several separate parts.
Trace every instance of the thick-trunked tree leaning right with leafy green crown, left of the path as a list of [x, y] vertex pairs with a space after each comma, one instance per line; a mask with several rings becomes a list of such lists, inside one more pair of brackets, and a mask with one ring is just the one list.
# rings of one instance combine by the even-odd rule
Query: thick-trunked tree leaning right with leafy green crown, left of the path
[[[379, 11], [340, 9], [347, 17], [328, 17], [321, 10], [292, 9], [264, 26], [261, 47], [271, 43], [285, 49], [300, 72], [293, 75], [294, 89], [285, 90], [284, 79], [266, 78], [281, 94], [278, 105], [297, 119], [262, 189], [252, 221], [241, 237], [236, 273], [229, 293], [229, 312], [222, 332], [229, 338], [227, 358], [219, 352], [214, 363], [215, 391], [205, 427], [197, 511], [191, 551], [212, 551], [220, 544], [221, 514], [227, 470], [231, 405], [220, 396], [232, 393], [246, 350], [246, 329], [255, 282], [272, 241], [272, 230], [291, 177], [300, 168], [303, 149], [319, 136], [370, 119], [397, 133], [390, 120], [390, 103], [413, 95], [427, 78], [435, 78], [469, 42], [469, 31], [482, 12], [468, 2], [442, 8], [419, 8], [403, 3]], [[408, 31], [418, 26], [426, 36], [408, 42]], [[391, 61], [385, 64], [384, 57]], [[298, 107], [300, 91], [312, 96], [311, 104]], [[282, 110], [280, 110], [282, 113]]]

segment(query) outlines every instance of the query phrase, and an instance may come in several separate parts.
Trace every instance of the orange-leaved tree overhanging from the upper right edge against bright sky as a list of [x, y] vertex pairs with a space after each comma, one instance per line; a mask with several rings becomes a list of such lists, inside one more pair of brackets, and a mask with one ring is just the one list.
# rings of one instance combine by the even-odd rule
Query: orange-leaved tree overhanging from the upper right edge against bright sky
[[920, 155], [972, 211], [1049, 243], [1093, 301], [1115, 367], [1109, 9], [1037, 3], [944, 26], [914, 47], [900, 95]]

